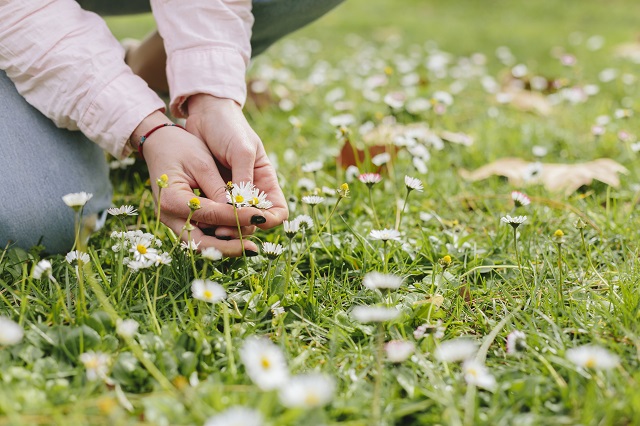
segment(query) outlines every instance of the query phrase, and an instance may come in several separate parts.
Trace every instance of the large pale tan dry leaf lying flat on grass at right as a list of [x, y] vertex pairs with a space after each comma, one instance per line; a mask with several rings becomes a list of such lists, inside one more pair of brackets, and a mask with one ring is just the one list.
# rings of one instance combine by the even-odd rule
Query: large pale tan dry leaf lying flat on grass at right
[[475, 182], [490, 176], [504, 176], [516, 186], [542, 184], [553, 192], [569, 195], [595, 179], [607, 185], [620, 185], [619, 173], [628, 173], [621, 164], [599, 158], [587, 163], [530, 163], [520, 158], [502, 158], [474, 171], [459, 170], [462, 178]]

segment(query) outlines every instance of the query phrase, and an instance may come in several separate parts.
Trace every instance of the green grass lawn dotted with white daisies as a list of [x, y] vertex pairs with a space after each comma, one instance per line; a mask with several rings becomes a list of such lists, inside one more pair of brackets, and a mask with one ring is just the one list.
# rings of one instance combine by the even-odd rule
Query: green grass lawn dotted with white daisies
[[[114, 169], [139, 214], [86, 261], [0, 252], [0, 424], [639, 423], [639, 15], [350, 0], [277, 43], [245, 111], [300, 229], [215, 259], [156, 226], [140, 161]], [[506, 157], [527, 164], [463, 178]], [[541, 183], [599, 158], [619, 171]], [[140, 244], [171, 262], [135, 268]]]

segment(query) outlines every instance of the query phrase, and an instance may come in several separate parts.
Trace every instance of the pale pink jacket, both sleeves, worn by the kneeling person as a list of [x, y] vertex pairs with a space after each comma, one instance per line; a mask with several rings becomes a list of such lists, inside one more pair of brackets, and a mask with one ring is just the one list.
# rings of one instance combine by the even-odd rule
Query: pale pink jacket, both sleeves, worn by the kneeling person
[[[151, 5], [167, 51], [171, 112], [185, 117], [196, 93], [243, 105], [251, 0]], [[0, 0], [0, 69], [58, 127], [82, 131], [119, 158], [131, 152], [127, 140], [140, 122], [165, 107], [124, 63], [105, 22], [74, 0]]]

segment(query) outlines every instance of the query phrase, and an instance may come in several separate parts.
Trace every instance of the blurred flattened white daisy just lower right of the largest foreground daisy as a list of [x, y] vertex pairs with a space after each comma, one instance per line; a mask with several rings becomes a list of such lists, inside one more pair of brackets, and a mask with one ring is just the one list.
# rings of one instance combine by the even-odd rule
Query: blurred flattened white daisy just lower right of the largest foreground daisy
[[316, 408], [333, 399], [336, 384], [331, 377], [319, 373], [292, 377], [280, 388], [280, 402], [285, 407]]

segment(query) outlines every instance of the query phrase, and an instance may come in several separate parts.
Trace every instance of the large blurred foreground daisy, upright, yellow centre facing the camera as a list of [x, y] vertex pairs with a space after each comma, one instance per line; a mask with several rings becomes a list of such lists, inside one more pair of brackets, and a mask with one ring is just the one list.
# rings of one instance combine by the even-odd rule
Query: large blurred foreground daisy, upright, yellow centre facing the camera
[[289, 380], [282, 349], [266, 337], [251, 336], [240, 348], [247, 374], [260, 389], [277, 389]]

